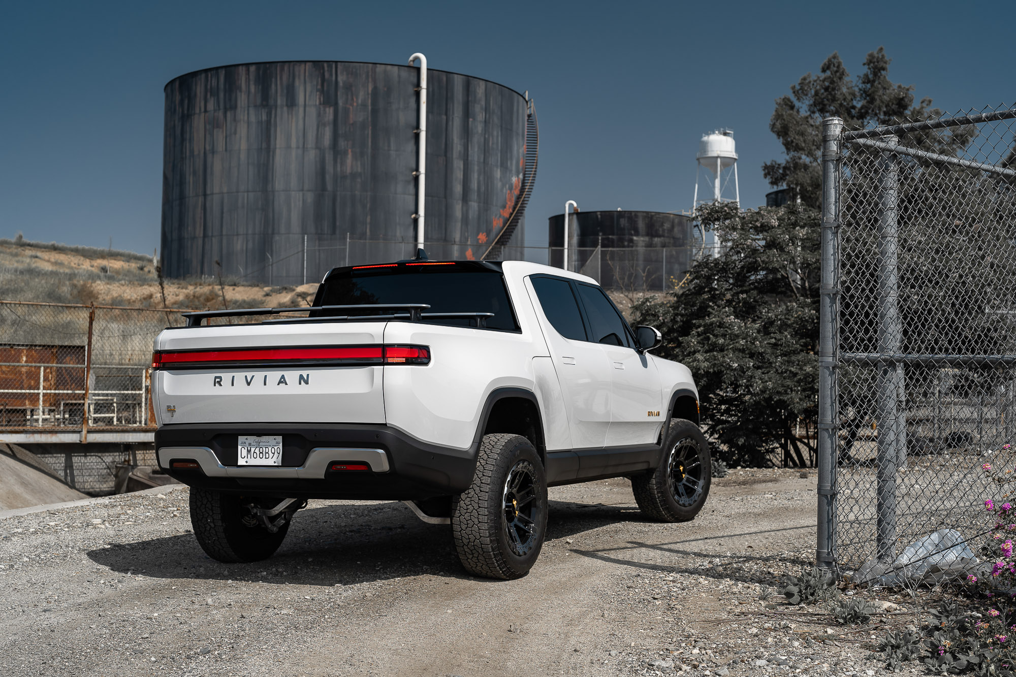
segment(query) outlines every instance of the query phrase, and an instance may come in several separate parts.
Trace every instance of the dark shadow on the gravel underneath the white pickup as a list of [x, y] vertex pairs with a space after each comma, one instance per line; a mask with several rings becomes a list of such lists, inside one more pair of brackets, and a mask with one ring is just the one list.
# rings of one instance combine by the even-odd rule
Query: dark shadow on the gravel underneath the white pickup
[[[645, 521], [632, 507], [567, 501], [550, 501], [549, 507], [548, 541], [616, 522]], [[192, 533], [140, 541], [112, 534], [106, 547], [86, 554], [114, 571], [167, 581], [331, 587], [423, 574], [469, 577], [458, 563], [451, 527], [424, 524], [397, 502], [301, 510], [282, 546], [260, 562], [217, 562], [201, 550]]]

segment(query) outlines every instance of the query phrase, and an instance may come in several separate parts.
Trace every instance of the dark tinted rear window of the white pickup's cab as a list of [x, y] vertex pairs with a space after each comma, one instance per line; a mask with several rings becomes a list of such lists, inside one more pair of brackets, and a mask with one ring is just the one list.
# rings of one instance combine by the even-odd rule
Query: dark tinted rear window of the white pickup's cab
[[[518, 330], [504, 275], [483, 263], [398, 263], [337, 268], [321, 284], [314, 299], [315, 306], [388, 303], [430, 304], [425, 313], [494, 313], [494, 317], [487, 318], [486, 328]], [[467, 318], [425, 317], [424, 321], [477, 326], [475, 320]]]

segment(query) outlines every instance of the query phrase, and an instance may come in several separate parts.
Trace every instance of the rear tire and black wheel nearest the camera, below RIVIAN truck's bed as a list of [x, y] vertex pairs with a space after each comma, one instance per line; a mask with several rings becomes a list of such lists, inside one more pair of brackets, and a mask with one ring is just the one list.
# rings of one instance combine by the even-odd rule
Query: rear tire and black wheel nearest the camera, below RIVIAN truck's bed
[[529, 572], [547, 534], [547, 476], [529, 440], [484, 436], [472, 484], [452, 498], [451, 529], [471, 573], [507, 579]]

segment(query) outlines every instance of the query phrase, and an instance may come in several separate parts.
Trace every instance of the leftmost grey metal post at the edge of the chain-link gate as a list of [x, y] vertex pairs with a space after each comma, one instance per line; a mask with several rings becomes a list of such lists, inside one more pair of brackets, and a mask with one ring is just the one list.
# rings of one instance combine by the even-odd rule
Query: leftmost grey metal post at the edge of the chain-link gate
[[822, 121], [822, 283], [819, 296], [818, 539], [816, 563], [835, 565], [834, 472], [836, 468], [836, 266], [839, 226], [840, 133], [843, 120]]

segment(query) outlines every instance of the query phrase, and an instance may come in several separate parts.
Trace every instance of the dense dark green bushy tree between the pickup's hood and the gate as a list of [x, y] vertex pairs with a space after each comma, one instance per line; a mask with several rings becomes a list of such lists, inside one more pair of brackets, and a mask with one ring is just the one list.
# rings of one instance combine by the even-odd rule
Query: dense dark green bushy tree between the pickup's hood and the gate
[[[636, 304], [662, 331], [661, 357], [695, 374], [703, 423], [725, 460], [814, 465], [817, 406], [818, 212], [790, 204], [698, 211], [722, 255], [698, 261], [687, 283]], [[799, 429], [799, 423], [801, 427]]]

